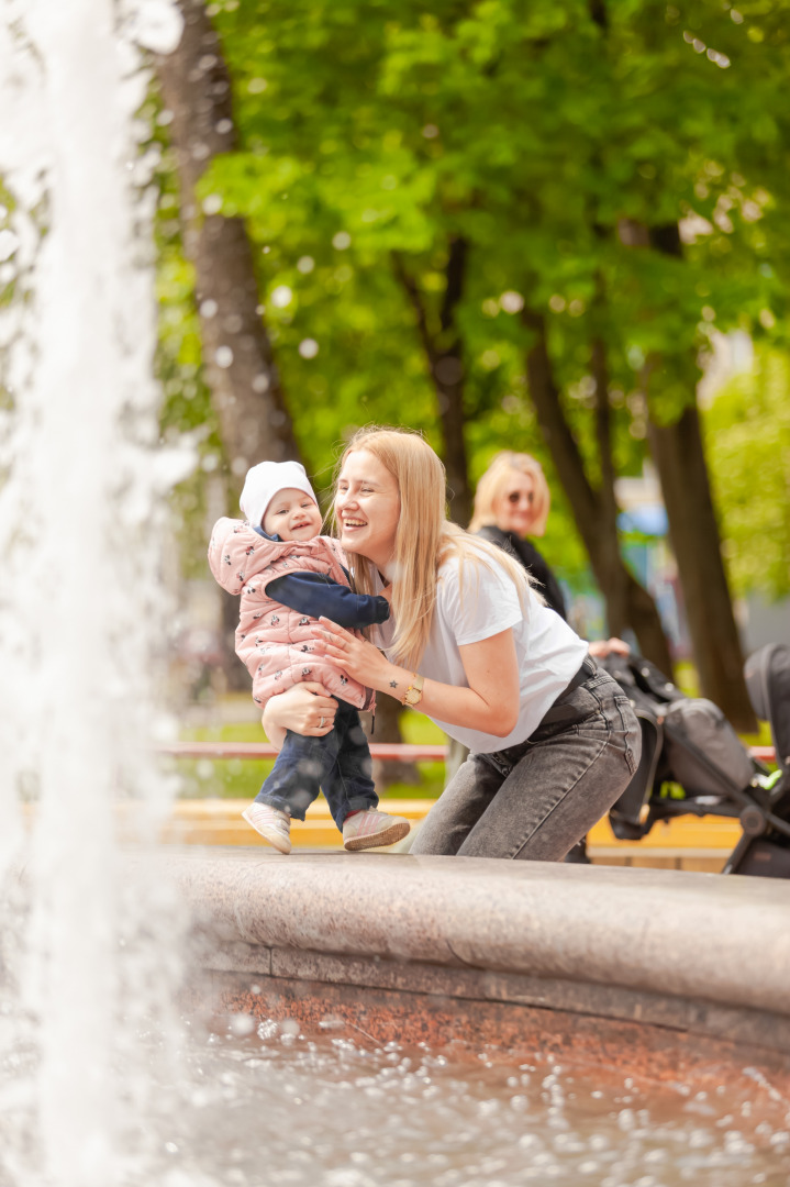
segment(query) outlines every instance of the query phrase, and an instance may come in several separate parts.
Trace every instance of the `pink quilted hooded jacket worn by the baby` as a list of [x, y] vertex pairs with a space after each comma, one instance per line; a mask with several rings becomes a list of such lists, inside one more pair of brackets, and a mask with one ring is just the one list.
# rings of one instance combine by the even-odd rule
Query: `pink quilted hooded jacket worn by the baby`
[[[351, 677], [313, 655], [311, 627], [316, 620], [275, 602], [266, 594], [268, 582], [285, 573], [325, 573], [348, 585], [345, 560], [337, 540], [265, 540], [242, 520], [221, 519], [209, 544], [211, 572], [229, 594], [241, 594], [236, 628], [236, 655], [253, 678], [253, 700], [269, 697], [302, 680], [316, 680], [357, 709], [371, 709], [374, 693]], [[357, 631], [358, 634], [358, 631]]]

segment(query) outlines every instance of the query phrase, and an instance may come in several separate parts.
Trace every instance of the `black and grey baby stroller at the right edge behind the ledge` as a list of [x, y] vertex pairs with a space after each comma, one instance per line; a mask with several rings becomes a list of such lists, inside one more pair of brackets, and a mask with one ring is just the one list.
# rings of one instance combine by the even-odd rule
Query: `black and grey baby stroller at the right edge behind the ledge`
[[688, 813], [732, 817], [744, 834], [722, 872], [790, 877], [790, 647], [771, 643], [745, 667], [752, 707], [771, 725], [773, 773], [713, 702], [686, 697], [654, 664], [638, 655], [601, 664], [642, 726], [639, 766], [610, 812], [614, 836], [637, 840], [657, 820]]

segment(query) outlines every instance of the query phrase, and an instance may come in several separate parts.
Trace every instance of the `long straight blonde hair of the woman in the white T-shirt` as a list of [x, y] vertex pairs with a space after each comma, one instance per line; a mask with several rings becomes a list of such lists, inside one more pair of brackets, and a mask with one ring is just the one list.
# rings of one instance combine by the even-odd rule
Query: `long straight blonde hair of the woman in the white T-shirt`
[[[335, 489], [350, 453], [368, 450], [393, 475], [400, 495], [400, 515], [393, 550], [393, 614], [395, 635], [388, 650], [395, 662], [416, 668], [422, 659], [437, 604], [439, 569], [452, 554], [459, 559], [461, 591], [464, 564], [491, 572], [504, 569], [527, 612], [530, 579], [522, 565], [488, 540], [472, 538], [446, 512], [445, 468], [421, 433], [410, 429], [358, 430], [340, 457]], [[337, 529], [337, 520], [336, 520]], [[358, 553], [349, 557], [353, 588], [361, 594], [378, 590], [376, 566]], [[540, 594], [533, 594], [541, 599]], [[542, 599], [541, 599], [542, 601]]]

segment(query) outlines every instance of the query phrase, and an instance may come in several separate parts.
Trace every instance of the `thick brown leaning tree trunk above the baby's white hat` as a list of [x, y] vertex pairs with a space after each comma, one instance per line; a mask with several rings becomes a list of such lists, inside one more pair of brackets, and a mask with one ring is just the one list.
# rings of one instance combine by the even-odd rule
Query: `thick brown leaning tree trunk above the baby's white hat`
[[259, 312], [253, 248], [241, 218], [204, 214], [196, 186], [211, 159], [236, 147], [228, 69], [203, 0], [179, 0], [184, 33], [158, 59], [178, 160], [184, 249], [195, 265], [203, 358], [231, 471], [241, 485], [262, 461], [298, 458], [272, 345]]

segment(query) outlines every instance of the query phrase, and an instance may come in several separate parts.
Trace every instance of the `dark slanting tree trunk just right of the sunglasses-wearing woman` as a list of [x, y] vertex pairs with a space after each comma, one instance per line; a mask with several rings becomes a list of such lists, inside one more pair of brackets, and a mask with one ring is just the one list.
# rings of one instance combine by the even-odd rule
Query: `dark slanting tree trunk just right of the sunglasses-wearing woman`
[[[611, 497], [607, 496], [601, 501], [600, 494], [591, 487], [581, 455], [562, 413], [560, 393], [554, 380], [546, 342], [544, 320], [541, 315], [530, 310], [524, 310], [522, 317], [535, 334], [535, 342], [527, 353], [529, 394], [535, 405], [543, 439], [571, 502], [571, 509], [590, 556], [595, 580], [604, 595], [610, 630], [612, 634], [619, 633], [623, 624], [627, 623], [639, 641], [643, 655], [657, 664], [668, 675], [671, 675], [669, 646], [656, 605], [648, 591], [629, 572], [620, 556], [613, 493]], [[600, 357], [598, 367], [597, 382], [603, 385], [604, 373]], [[599, 392], [599, 402], [603, 398]], [[600, 434], [607, 434], [606, 425], [599, 424], [598, 432], [599, 440], [603, 440]], [[607, 472], [607, 465], [609, 462], [605, 462], [604, 474]]]

